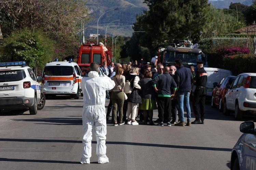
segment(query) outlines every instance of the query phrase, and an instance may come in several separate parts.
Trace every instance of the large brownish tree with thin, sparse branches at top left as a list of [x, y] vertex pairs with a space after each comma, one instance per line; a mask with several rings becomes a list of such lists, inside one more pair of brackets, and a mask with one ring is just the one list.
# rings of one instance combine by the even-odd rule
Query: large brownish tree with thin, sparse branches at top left
[[56, 56], [75, 56], [80, 44], [81, 21], [89, 19], [84, 0], [1, 0], [0, 25], [3, 36], [18, 29], [42, 30], [55, 40]]

